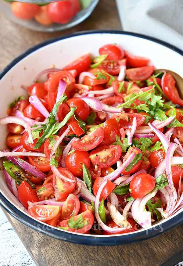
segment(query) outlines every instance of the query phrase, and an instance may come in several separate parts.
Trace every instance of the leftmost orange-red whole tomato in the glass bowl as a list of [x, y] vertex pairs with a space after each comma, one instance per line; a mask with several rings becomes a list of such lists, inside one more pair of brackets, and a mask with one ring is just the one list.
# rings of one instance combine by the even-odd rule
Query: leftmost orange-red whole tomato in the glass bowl
[[40, 6], [28, 3], [13, 2], [12, 13], [20, 20], [31, 20], [39, 12]]

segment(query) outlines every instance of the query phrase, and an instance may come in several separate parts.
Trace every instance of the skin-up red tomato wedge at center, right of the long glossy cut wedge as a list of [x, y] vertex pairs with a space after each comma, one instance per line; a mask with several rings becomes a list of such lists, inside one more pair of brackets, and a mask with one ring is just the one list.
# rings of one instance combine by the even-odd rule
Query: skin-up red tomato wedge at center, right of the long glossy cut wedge
[[120, 137], [120, 128], [115, 118], [109, 118], [103, 126], [104, 138], [99, 146], [107, 146], [116, 141], [116, 135]]

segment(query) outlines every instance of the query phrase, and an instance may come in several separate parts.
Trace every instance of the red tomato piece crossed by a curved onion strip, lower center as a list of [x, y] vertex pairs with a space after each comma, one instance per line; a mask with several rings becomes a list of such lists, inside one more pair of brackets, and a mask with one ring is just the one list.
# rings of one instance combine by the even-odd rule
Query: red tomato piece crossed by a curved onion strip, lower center
[[[95, 182], [93, 184], [93, 194], [95, 196], [97, 195], [99, 187], [104, 180], [105, 178], [102, 178], [102, 177], [97, 177], [95, 179]], [[107, 180], [107, 184], [102, 189], [102, 193], [100, 194], [100, 201], [102, 200], [102, 198], [105, 200], [109, 196], [109, 194], [115, 189], [115, 187], [116, 186], [113, 184], [113, 182], [111, 182], [110, 180]]]

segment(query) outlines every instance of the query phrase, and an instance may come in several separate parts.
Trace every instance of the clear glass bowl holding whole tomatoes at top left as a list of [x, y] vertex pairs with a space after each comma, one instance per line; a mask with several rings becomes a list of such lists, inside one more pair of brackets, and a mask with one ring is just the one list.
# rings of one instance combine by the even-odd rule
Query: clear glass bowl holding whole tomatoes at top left
[[[28, 28], [30, 30], [34, 30], [34, 31], [53, 32], [53, 31], [66, 30], [66, 29], [69, 29], [69, 28], [74, 27], [75, 25], [81, 23], [88, 16], [90, 16], [90, 14], [95, 9], [95, 6], [99, 2], [99, 0], [86, 1], [86, 2], [88, 2], [88, 4], [87, 4], [88, 6], [86, 8], [81, 9], [75, 16], [73, 16], [73, 18], [68, 23], [66, 23], [66, 24], [53, 23], [53, 24], [51, 24], [49, 26], [41, 25], [35, 19], [32, 19], [32, 20], [20, 20], [20, 19], [16, 18], [13, 15], [12, 10], [11, 10], [11, 2], [13, 2], [13, 1], [11, 1], [11, 0], [0, 0], [0, 9], [2, 9], [3, 12], [11, 20], [13, 20], [15, 23], [17, 23], [17, 24], [19, 24], [19, 25], [21, 25], [23, 27], [26, 27], [26, 28]], [[34, 4], [44, 5], [44, 4], [48, 4], [49, 2], [56, 2], [56, 1], [54, 1], [54, 0], [31, 0], [31, 1], [30, 0], [20, 0], [20, 1], [17, 1], [17, 2], [24, 2], [24, 3], [26, 2], [26, 3], [32, 3], [32, 4], [34, 3]], [[84, 1], [82, 1], [82, 2], [84, 2]]]

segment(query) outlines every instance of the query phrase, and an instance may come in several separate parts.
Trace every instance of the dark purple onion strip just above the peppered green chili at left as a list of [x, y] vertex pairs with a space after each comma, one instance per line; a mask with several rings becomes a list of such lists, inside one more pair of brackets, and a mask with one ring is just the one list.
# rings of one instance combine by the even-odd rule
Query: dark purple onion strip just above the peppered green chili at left
[[15, 158], [13, 156], [6, 156], [6, 158], [10, 160], [13, 164], [18, 165], [21, 169], [26, 170], [27, 172], [33, 174], [34, 176], [42, 180], [45, 180], [45, 178], [47, 178], [46, 174], [44, 174], [39, 169], [37, 169], [36, 167], [34, 167], [33, 165], [27, 163], [26, 161], [22, 159]]

